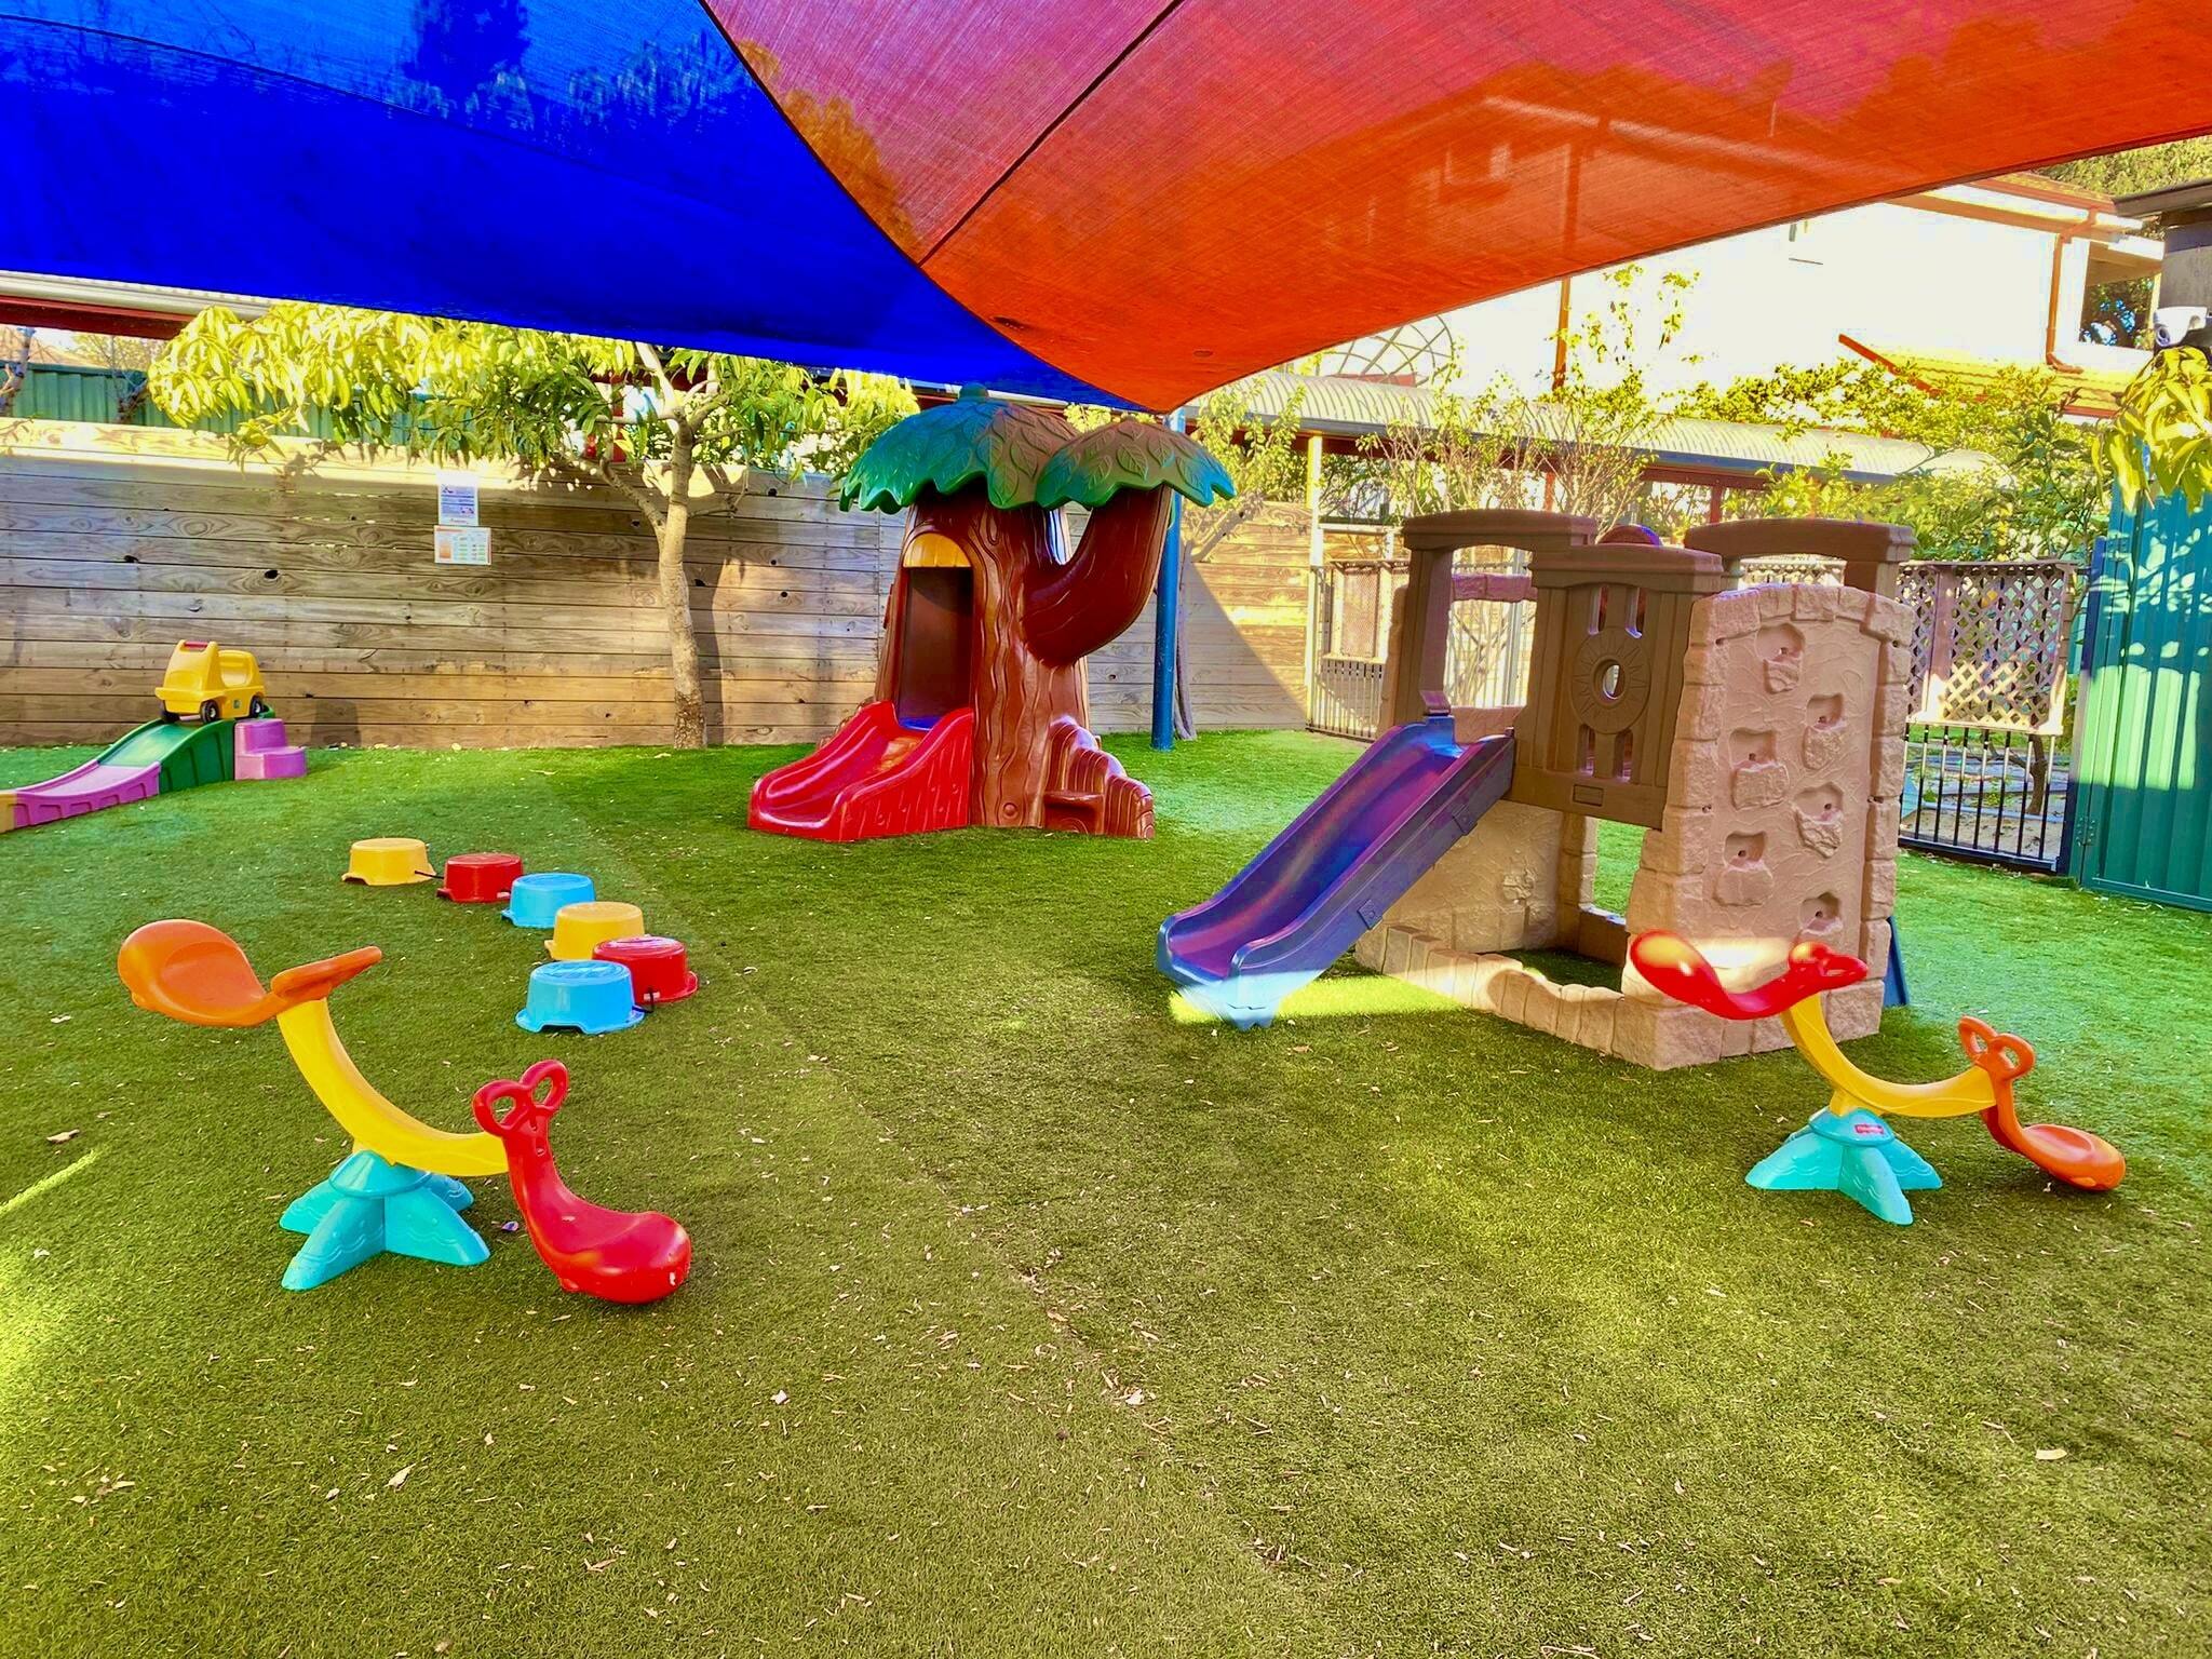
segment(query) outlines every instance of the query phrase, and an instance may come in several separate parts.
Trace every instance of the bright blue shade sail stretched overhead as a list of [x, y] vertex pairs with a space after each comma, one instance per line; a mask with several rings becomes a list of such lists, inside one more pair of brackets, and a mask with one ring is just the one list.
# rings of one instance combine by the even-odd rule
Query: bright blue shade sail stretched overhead
[[854, 206], [695, 0], [0, 0], [0, 268], [1110, 400]]

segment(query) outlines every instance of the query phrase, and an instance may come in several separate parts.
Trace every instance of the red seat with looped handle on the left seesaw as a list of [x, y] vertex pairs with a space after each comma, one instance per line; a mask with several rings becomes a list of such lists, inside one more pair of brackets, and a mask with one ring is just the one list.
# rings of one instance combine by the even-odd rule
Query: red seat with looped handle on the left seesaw
[[568, 1068], [540, 1060], [520, 1082], [498, 1077], [478, 1088], [476, 1121], [507, 1144], [515, 1208], [562, 1290], [611, 1303], [659, 1301], [690, 1274], [690, 1234], [657, 1210], [602, 1210], [568, 1190], [546, 1133], [566, 1095]]

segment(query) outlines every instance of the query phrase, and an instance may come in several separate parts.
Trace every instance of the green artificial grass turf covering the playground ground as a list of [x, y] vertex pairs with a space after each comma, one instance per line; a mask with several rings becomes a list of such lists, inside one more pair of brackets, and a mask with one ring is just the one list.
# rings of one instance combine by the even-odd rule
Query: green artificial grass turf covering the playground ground
[[[2132, 1168], [1909, 1124], [1949, 1186], [1889, 1230], [1743, 1188], [1792, 1055], [1655, 1077], [1356, 971], [1177, 1018], [1159, 918], [1352, 750], [1115, 748], [1150, 845], [752, 836], [792, 750], [316, 754], [0, 841], [0, 1648], [2212, 1648], [2212, 920], [1907, 858], [1922, 1006], [1860, 1064], [1955, 1071], [1978, 1011]], [[341, 887], [365, 834], [591, 869], [708, 987], [529, 1037], [535, 936]], [[281, 1292], [341, 1146], [274, 1033], [131, 1009], [161, 914], [263, 973], [380, 942], [332, 1006], [431, 1121], [568, 1060], [571, 1181], [692, 1283], [606, 1310], [489, 1232]]]

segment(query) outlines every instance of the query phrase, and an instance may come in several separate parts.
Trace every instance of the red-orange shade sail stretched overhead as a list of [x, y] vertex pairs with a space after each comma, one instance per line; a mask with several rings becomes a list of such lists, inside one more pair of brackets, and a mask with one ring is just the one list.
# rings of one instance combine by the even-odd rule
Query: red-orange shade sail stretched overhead
[[2137, 0], [710, 0], [967, 310], [1141, 405], [1754, 226], [2212, 128]]

